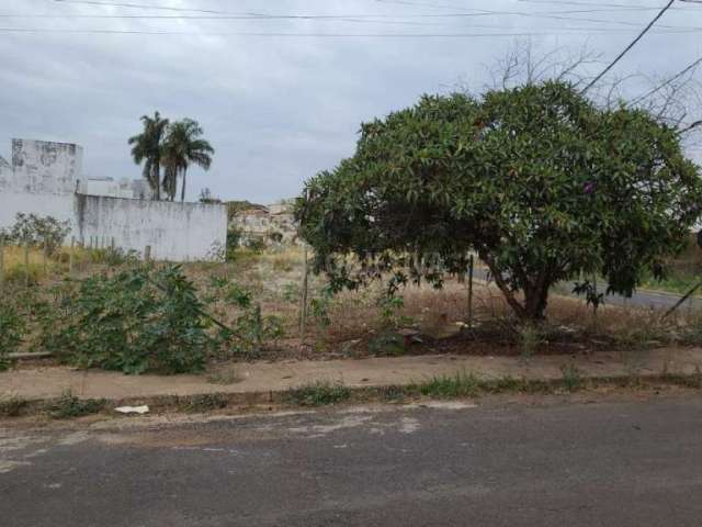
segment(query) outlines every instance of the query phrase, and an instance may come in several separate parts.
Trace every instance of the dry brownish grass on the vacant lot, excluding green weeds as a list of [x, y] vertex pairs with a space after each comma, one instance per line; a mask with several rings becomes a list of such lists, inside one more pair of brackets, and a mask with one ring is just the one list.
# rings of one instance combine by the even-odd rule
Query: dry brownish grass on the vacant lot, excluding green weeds
[[[22, 248], [5, 248], [5, 269], [23, 267]], [[43, 285], [66, 279], [69, 249], [61, 249], [52, 260], [50, 276], [44, 277], [41, 251], [31, 253], [31, 267]], [[111, 266], [94, 251], [76, 248], [75, 276], [111, 272]], [[359, 291], [347, 291], [326, 299], [324, 277], [309, 276], [308, 299], [312, 309], [304, 336], [299, 334], [301, 291], [304, 253], [298, 247], [254, 254], [241, 251], [227, 264], [190, 262], [185, 273], [201, 294], [216, 296], [213, 278], [227, 278], [250, 291], [264, 315], [282, 322], [285, 337], [275, 343], [269, 357], [325, 357], [328, 355], [369, 355], [370, 344], [388, 327], [381, 314], [378, 299], [383, 288], [376, 283]], [[23, 281], [18, 281], [21, 288]], [[42, 288], [44, 289], [44, 288]], [[48, 290], [48, 288], [47, 288]], [[449, 280], [441, 290], [410, 285], [403, 291], [404, 305], [397, 311], [403, 326], [420, 332], [423, 344], [411, 345], [406, 352], [461, 352], [472, 355], [573, 354], [593, 349], [644, 349], [671, 344], [702, 343], [702, 317], [680, 314], [661, 322], [660, 312], [649, 310], [600, 307], [597, 315], [584, 302], [552, 294], [547, 324], [524, 332], [518, 327], [500, 292], [476, 281], [473, 321], [467, 328], [467, 288]], [[213, 315], [231, 322], [236, 307], [220, 299], [211, 304]], [[697, 329], [697, 328], [700, 329]]]

